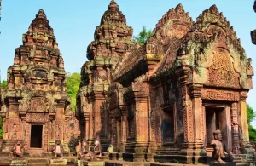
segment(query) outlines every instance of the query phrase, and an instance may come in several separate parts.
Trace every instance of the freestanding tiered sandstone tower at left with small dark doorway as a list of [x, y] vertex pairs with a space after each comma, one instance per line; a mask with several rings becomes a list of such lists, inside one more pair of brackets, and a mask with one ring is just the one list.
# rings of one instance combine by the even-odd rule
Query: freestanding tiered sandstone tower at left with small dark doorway
[[1, 110], [5, 151], [22, 140], [26, 152], [49, 152], [55, 140], [66, 145], [79, 129], [69, 128], [77, 121], [67, 100], [64, 61], [42, 9], [22, 41], [8, 69], [6, 107]]

